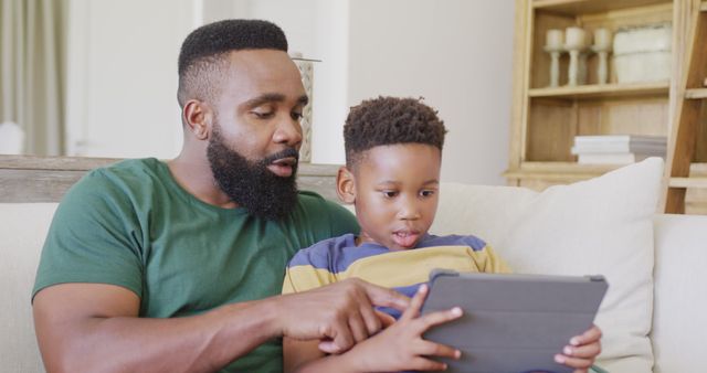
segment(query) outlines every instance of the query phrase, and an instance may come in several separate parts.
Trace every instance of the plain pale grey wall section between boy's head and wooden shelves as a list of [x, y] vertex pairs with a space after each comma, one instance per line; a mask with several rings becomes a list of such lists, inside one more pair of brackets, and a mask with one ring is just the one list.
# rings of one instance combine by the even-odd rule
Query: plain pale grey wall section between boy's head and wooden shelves
[[449, 130], [442, 179], [505, 183], [513, 21], [510, 0], [351, 1], [349, 104], [424, 97]]

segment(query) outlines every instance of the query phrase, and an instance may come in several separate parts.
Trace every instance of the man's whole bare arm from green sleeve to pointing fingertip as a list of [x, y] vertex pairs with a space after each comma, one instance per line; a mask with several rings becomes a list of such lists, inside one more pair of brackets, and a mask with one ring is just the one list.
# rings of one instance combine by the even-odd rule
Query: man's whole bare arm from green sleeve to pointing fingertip
[[63, 284], [36, 294], [34, 326], [48, 372], [211, 372], [282, 335], [330, 339], [348, 350], [354, 335], [381, 328], [361, 303], [404, 310], [409, 300], [350, 280], [200, 316], [146, 319], [138, 318], [139, 298], [130, 290]]

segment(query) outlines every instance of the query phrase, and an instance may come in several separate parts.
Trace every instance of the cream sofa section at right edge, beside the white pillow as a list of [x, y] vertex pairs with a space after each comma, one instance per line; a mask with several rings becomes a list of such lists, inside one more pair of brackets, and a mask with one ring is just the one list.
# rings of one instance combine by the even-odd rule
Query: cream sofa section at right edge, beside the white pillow
[[707, 372], [707, 216], [655, 216], [656, 373]]

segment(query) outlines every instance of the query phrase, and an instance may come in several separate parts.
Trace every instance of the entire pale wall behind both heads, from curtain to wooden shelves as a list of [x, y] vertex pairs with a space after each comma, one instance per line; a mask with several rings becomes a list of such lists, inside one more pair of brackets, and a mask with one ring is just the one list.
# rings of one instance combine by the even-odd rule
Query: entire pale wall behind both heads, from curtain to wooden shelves
[[[443, 179], [504, 183], [511, 0], [71, 0], [72, 154], [171, 158], [181, 41], [203, 21], [260, 18], [315, 65], [313, 161], [344, 162], [351, 105], [423, 96], [450, 134]], [[137, 11], [139, 10], [139, 11]]]

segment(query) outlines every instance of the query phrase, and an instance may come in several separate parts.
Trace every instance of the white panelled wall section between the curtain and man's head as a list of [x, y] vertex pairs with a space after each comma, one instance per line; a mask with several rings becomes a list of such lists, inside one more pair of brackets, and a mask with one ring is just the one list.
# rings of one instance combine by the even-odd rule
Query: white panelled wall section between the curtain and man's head
[[68, 154], [178, 153], [177, 56], [193, 8], [193, 0], [71, 0]]

